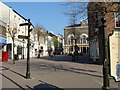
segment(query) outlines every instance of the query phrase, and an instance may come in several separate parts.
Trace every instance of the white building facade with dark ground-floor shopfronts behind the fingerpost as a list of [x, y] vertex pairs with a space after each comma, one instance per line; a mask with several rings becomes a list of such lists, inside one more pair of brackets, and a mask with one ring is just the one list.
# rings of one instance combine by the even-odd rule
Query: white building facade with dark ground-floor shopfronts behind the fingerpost
[[[28, 27], [19, 26], [21, 23], [28, 23], [27, 19], [21, 16], [11, 7], [0, 2], [0, 18], [1, 22], [6, 24], [6, 51], [8, 52], [8, 58], [13, 59], [13, 55], [17, 55], [19, 59], [27, 58], [27, 40], [18, 38], [18, 35], [28, 36]], [[33, 25], [31, 28], [34, 28]], [[3, 30], [3, 29], [2, 29]], [[34, 29], [33, 29], [34, 30]], [[10, 31], [10, 32], [9, 32]], [[12, 32], [13, 31], [13, 32]], [[14, 34], [15, 33], [15, 34]], [[14, 34], [14, 43], [12, 36]], [[12, 36], [11, 36], [12, 35]], [[34, 57], [33, 46], [34, 46], [34, 31], [30, 35], [30, 56]], [[31, 47], [32, 46], [32, 47]], [[14, 47], [14, 48], [13, 48]], [[13, 53], [14, 49], [14, 53]]]

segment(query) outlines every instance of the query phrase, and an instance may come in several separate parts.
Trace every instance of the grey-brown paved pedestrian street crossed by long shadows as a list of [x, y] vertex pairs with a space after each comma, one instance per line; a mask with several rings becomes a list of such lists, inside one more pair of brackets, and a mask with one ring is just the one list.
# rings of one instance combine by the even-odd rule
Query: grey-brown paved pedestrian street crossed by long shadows
[[[72, 62], [71, 56], [31, 58], [31, 79], [25, 79], [26, 60], [18, 60], [15, 65], [3, 62], [0, 68], [3, 88], [102, 87], [102, 65], [90, 62], [87, 56], [80, 56], [77, 62]], [[110, 87], [118, 88], [112, 78]]]

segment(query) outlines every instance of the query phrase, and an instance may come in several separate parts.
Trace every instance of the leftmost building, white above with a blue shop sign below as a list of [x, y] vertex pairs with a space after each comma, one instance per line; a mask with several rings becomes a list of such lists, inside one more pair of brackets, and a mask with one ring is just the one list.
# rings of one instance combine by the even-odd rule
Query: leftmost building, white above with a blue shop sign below
[[2, 60], [2, 52], [6, 51], [7, 35], [6, 29], [9, 23], [9, 7], [0, 2], [0, 60]]

